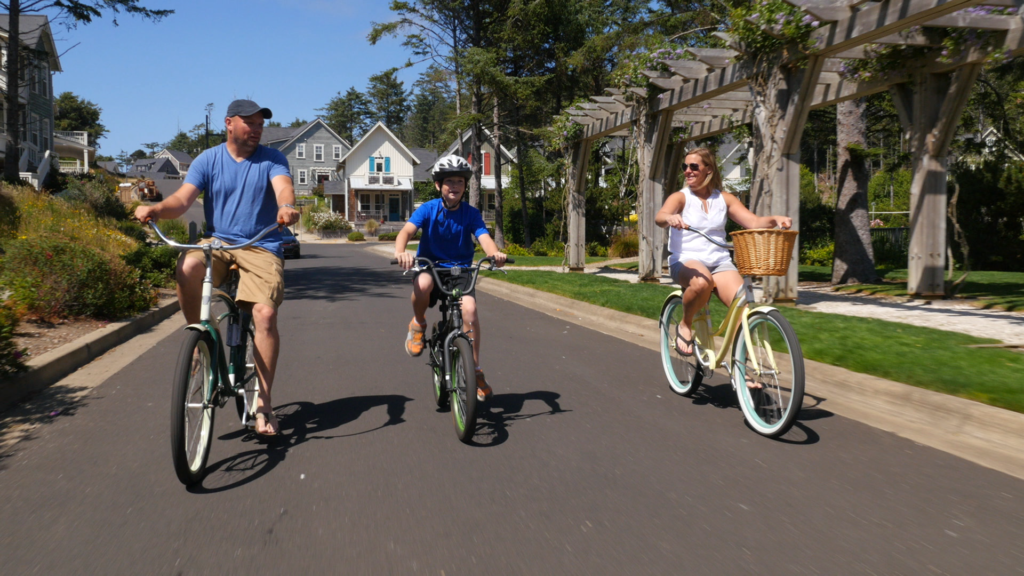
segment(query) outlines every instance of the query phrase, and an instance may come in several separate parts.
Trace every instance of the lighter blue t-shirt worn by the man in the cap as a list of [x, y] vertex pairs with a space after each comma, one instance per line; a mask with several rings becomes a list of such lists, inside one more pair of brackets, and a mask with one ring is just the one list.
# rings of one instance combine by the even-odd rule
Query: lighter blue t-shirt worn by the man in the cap
[[[220, 145], [199, 155], [188, 168], [185, 183], [204, 191], [206, 231], [228, 244], [244, 244], [278, 220], [278, 197], [270, 180], [291, 177], [288, 160], [280, 151], [260, 146], [252, 156], [236, 162]], [[284, 256], [276, 230], [255, 245]]]

